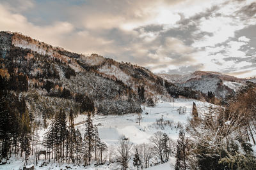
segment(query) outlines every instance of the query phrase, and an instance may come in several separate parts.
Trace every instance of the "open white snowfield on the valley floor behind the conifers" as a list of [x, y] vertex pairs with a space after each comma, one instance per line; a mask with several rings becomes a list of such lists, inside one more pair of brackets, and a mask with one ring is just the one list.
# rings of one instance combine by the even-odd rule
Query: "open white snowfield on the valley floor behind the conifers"
[[[179, 135], [179, 130], [175, 126], [180, 123], [186, 125], [188, 118], [191, 116], [193, 102], [196, 105], [203, 106], [205, 103], [193, 99], [175, 99], [174, 103], [158, 103], [156, 107], [149, 108], [142, 106], [143, 113], [141, 114], [141, 125], [138, 125], [136, 118], [137, 114], [127, 115], [109, 115], [108, 117], [102, 115], [95, 115], [93, 117], [93, 124], [100, 124], [98, 126], [99, 136], [102, 141], [108, 145], [115, 145], [118, 138], [125, 135], [134, 144], [148, 143], [149, 138], [157, 131], [165, 132], [170, 138], [176, 140]], [[186, 107], [186, 113], [180, 115], [178, 109]], [[200, 109], [200, 108], [199, 108]], [[146, 115], [148, 113], [148, 115]], [[173, 120], [173, 127], [166, 126], [164, 129], [156, 128], [156, 119], [163, 118], [164, 120]], [[75, 123], [86, 120], [86, 115], [79, 115], [75, 119]], [[84, 132], [84, 124], [76, 126], [81, 134]]]

